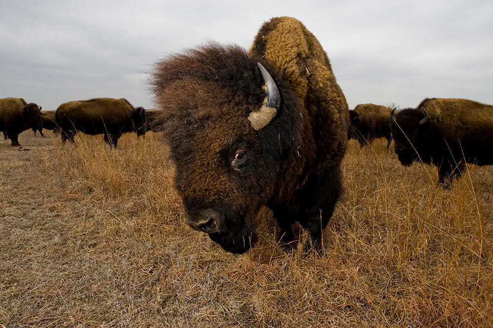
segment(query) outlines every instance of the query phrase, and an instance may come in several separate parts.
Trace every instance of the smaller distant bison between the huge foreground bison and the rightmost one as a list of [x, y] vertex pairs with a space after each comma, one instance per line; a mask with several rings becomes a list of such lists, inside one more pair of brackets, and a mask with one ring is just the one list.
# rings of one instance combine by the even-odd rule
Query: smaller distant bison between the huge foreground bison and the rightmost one
[[370, 145], [378, 138], [392, 141], [391, 108], [375, 104], [359, 104], [349, 110], [348, 139], [356, 139], [361, 147]]

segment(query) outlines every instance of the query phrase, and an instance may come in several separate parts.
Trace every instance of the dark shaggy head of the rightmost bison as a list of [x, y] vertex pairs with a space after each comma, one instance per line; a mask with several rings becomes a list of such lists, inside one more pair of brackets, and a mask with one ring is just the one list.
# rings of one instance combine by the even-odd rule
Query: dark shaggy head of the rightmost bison
[[427, 162], [427, 138], [430, 129], [428, 112], [424, 108], [402, 109], [394, 115], [394, 111], [395, 109], [390, 117], [394, 120], [392, 131], [399, 161], [404, 166], [410, 166], [417, 159]]

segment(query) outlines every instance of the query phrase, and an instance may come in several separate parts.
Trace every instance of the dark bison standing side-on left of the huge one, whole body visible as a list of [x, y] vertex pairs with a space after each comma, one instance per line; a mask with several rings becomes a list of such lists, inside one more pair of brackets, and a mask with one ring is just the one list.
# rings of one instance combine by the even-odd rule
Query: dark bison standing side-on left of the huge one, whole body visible
[[145, 134], [145, 109], [134, 108], [126, 99], [96, 98], [62, 104], [56, 112], [62, 140], [74, 143], [77, 131], [104, 134], [105, 141], [116, 147], [125, 132]]

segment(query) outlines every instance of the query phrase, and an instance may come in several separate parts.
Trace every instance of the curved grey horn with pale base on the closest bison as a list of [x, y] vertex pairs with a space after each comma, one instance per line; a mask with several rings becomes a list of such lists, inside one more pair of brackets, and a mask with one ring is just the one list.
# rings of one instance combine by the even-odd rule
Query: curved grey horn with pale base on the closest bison
[[257, 63], [257, 65], [264, 78], [264, 88], [267, 95], [260, 110], [250, 112], [248, 120], [255, 130], [260, 130], [276, 117], [277, 111], [281, 107], [281, 94], [279, 93], [276, 82], [274, 82], [271, 74], [267, 72], [262, 64]]

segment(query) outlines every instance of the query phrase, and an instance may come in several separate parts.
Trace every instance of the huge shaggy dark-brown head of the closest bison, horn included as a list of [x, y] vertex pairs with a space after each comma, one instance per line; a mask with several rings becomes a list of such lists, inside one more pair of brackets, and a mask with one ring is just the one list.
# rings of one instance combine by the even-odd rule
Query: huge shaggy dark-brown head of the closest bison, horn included
[[186, 222], [224, 250], [246, 252], [259, 209], [289, 183], [283, 169], [302, 133], [296, 96], [268, 62], [237, 46], [175, 55], [153, 77]]

